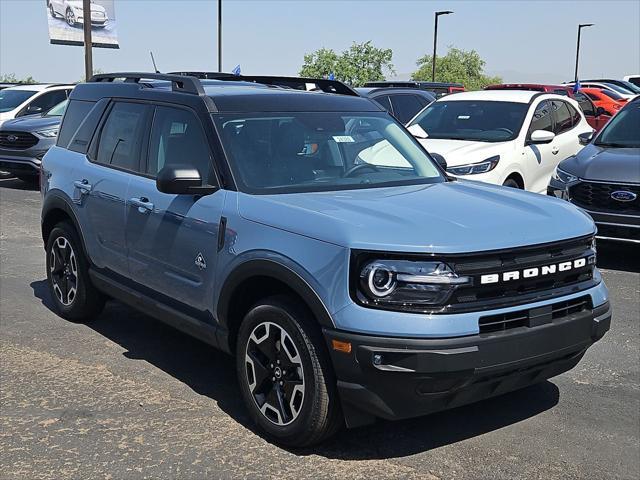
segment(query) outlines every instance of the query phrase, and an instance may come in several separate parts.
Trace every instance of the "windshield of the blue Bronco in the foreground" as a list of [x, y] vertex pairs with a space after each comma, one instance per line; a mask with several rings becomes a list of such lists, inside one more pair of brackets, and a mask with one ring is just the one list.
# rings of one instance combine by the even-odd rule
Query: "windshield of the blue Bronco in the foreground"
[[386, 113], [214, 115], [236, 182], [248, 193], [344, 190], [444, 181]]

